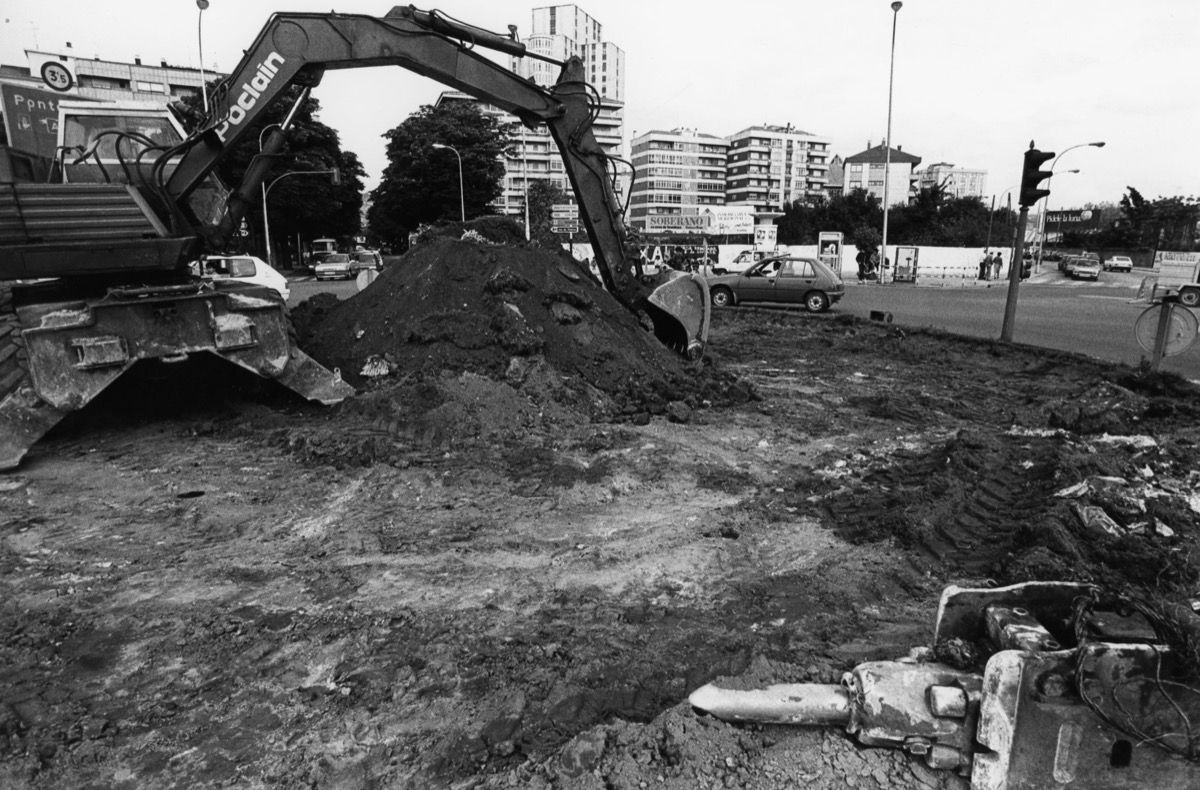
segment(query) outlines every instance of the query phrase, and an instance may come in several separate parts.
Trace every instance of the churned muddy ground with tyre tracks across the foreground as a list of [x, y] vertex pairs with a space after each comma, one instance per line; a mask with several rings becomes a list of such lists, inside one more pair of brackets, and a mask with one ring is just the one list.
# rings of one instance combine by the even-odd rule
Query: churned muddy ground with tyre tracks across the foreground
[[742, 309], [611, 383], [503, 307], [617, 364], [570, 274], [478, 307], [503, 369], [325, 305], [352, 401], [131, 377], [0, 475], [0, 786], [962, 786], [685, 700], [904, 656], [950, 582], [1198, 592], [1190, 385]]

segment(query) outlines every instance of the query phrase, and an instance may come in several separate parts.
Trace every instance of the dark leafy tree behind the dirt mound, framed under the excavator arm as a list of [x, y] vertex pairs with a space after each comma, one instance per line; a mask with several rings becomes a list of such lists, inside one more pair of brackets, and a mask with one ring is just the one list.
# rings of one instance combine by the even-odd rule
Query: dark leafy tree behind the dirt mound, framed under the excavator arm
[[504, 164], [500, 156], [508, 133], [474, 102], [425, 104], [389, 131], [388, 167], [371, 192], [367, 223], [385, 243], [403, 249], [408, 234], [420, 225], [458, 219], [458, 158], [462, 157], [462, 199], [467, 217], [490, 214], [488, 204], [500, 194]]

